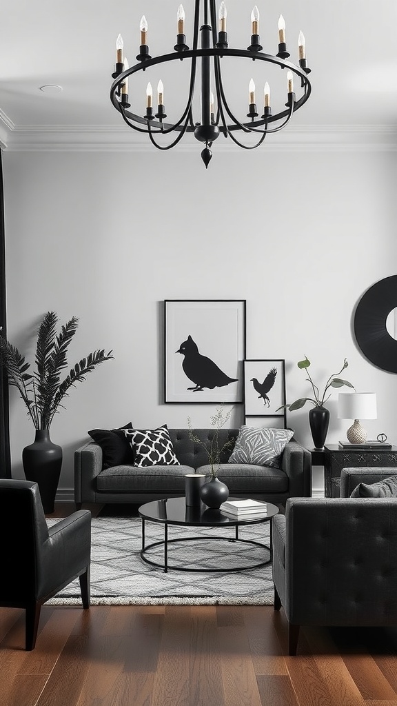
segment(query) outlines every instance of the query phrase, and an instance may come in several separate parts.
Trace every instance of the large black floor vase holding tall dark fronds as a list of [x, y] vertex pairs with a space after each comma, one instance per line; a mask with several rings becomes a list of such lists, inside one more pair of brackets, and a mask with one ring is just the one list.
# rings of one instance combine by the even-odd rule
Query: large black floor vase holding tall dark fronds
[[36, 429], [35, 441], [22, 452], [23, 470], [28, 481], [37, 483], [46, 514], [54, 512], [55, 495], [62, 466], [62, 448], [52, 443], [48, 429]]

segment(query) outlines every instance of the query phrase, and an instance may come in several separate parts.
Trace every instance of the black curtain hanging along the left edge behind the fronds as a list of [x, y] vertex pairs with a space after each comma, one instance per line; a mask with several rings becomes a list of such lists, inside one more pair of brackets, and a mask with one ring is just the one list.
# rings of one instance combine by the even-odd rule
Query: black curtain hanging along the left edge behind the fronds
[[[0, 333], [6, 330], [6, 244], [4, 234], [3, 162], [0, 149]], [[8, 380], [0, 365], [0, 478], [11, 478]]]

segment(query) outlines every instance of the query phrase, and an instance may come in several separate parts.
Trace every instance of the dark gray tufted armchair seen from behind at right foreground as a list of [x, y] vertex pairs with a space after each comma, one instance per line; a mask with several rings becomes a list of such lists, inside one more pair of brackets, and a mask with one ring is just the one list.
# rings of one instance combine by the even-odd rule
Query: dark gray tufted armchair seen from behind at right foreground
[[275, 610], [300, 626], [397, 626], [397, 498], [350, 498], [396, 468], [345, 468], [340, 498], [290, 498], [273, 518]]

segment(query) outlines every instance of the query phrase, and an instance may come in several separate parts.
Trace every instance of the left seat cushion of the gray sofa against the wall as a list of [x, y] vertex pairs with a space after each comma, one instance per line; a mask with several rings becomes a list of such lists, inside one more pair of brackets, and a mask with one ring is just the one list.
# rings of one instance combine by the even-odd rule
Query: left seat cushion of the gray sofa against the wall
[[190, 466], [116, 466], [96, 477], [97, 491], [105, 493], [185, 493], [185, 475]]

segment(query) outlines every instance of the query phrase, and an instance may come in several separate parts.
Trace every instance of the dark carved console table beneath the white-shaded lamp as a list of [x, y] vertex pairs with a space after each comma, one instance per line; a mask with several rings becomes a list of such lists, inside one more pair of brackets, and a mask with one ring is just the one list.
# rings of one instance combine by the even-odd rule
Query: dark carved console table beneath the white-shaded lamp
[[397, 467], [397, 446], [375, 450], [350, 450], [339, 444], [324, 446], [324, 489], [326, 498], [339, 497], [340, 473], [343, 468]]

